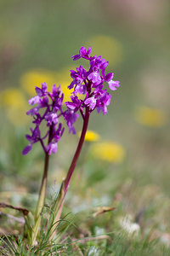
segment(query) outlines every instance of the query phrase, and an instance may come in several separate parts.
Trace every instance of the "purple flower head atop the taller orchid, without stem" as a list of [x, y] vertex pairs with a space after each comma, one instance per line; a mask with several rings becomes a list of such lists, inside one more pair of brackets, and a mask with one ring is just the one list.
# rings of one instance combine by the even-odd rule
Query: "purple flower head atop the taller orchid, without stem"
[[[79, 109], [84, 115], [83, 108], [89, 108], [89, 111], [94, 111], [97, 108], [98, 113], [102, 111], [107, 113], [107, 106], [111, 102], [111, 95], [104, 88], [104, 83], [109, 85], [111, 90], [116, 90], [119, 87], [119, 81], [114, 81], [114, 73], [105, 74], [105, 68], [108, 66], [109, 61], [101, 59], [101, 56], [90, 56], [91, 48], [86, 50], [82, 47], [79, 51], [79, 55], [73, 55], [73, 61], [77, 61], [80, 58], [89, 61], [90, 67], [85, 70], [82, 65], [77, 67], [77, 71], [71, 70], [71, 78], [73, 81], [68, 86], [71, 90], [74, 88], [73, 95], [71, 96], [71, 102], [65, 102], [67, 108], [72, 109], [75, 113]], [[78, 94], [84, 95], [84, 99], [79, 99]]]

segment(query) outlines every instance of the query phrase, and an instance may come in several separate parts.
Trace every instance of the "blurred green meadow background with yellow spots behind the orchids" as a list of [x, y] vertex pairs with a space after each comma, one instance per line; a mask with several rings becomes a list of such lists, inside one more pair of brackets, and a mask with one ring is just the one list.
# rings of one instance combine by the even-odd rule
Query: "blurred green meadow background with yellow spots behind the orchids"
[[[121, 84], [111, 92], [108, 113], [90, 117], [63, 214], [76, 225], [66, 230], [70, 241], [84, 241], [61, 255], [77, 248], [75, 255], [170, 255], [169, 7], [168, 0], [0, 1], [0, 201], [35, 210], [42, 148], [21, 154], [35, 85], [60, 84], [68, 101], [70, 69], [82, 63], [71, 55], [89, 45], [92, 55], [110, 62], [107, 72]], [[77, 135], [65, 127], [51, 156], [48, 204], [81, 129], [81, 119]], [[18, 235], [14, 220], [3, 223], [4, 212], [18, 213], [0, 212], [0, 233]], [[101, 234], [110, 235], [85, 241]]]

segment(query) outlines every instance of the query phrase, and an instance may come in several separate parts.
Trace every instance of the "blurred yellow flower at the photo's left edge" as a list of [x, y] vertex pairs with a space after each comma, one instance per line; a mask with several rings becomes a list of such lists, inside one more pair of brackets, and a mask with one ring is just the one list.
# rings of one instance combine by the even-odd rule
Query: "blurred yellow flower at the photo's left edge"
[[16, 88], [8, 88], [3, 90], [0, 96], [0, 102], [5, 110], [5, 113], [13, 125], [26, 125], [28, 116], [26, 111], [28, 103], [25, 95]]

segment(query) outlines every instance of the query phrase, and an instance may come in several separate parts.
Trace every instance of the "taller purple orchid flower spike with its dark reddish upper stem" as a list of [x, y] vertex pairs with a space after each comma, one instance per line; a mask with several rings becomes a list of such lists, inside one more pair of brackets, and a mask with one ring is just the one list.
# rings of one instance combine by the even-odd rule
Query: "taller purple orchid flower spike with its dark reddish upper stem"
[[[88, 50], [81, 47], [78, 55], [73, 55], [71, 58], [73, 61], [77, 61], [80, 58], [89, 61], [89, 68], [86, 70], [82, 65], [77, 67], [77, 70], [71, 70], [72, 82], [68, 86], [68, 89], [73, 89], [71, 101], [65, 102], [68, 110], [65, 113], [65, 119], [67, 125], [70, 127], [70, 132], [75, 132], [72, 125], [77, 119], [77, 112], [79, 111], [83, 119], [82, 136], [77, 146], [77, 152], [71, 164], [70, 170], [65, 179], [65, 191], [68, 189], [72, 172], [75, 168], [75, 162], [85, 137], [85, 133], [88, 127], [88, 119], [90, 113], [95, 109], [99, 113], [102, 111], [107, 113], [107, 107], [111, 103], [111, 95], [105, 88], [105, 84], [108, 84], [111, 90], [116, 90], [119, 87], [118, 81], [113, 81], [114, 73], [105, 74], [105, 69], [109, 65], [109, 61], [105, 61], [101, 56], [90, 56], [91, 47]], [[82, 95], [82, 97], [79, 97]], [[76, 160], [75, 160], [76, 159]], [[65, 192], [66, 193], [66, 192]]]

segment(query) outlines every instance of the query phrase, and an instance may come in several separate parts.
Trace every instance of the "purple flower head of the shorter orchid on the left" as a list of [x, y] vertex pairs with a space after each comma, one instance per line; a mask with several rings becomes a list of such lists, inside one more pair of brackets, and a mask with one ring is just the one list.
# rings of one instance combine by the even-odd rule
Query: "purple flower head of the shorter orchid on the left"
[[[45, 153], [52, 154], [57, 151], [57, 143], [64, 132], [63, 125], [59, 122], [59, 117], [63, 116], [69, 126], [69, 131], [75, 133], [73, 127], [77, 120], [77, 113], [73, 113], [71, 109], [62, 110], [63, 93], [60, 87], [53, 85], [52, 93], [48, 92], [47, 84], [42, 83], [42, 88], [36, 86], [37, 96], [29, 100], [30, 105], [36, 105], [31, 108], [26, 114], [33, 117], [34, 129], [31, 128], [31, 135], [26, 135], [29, 144], [24, 148], [22, 154], [28, 154], [32, 148], [32, 144], [40, 142]], [[41, 135], [40, 125], [42, 121], [46, 122], [48, 131], [45, 135]], [[45, 146], [44, 140], [48, 137], [48, 143]]]

